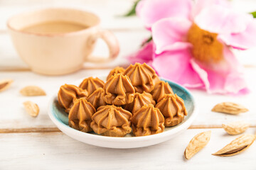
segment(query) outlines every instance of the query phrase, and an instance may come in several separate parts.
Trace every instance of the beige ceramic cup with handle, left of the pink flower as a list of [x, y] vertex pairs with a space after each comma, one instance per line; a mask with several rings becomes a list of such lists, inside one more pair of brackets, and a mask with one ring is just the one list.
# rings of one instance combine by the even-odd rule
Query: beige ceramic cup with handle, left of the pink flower
[[[72, 33], [38, 34], [21, 31], [26, 26], [48, 21], [72, 21], [88, 28]], [[100, 18], [93, 13], [70, 8], [46, 8], [40, 11], [22, 13], [9, 19], [7, 26], [18, 55], [33, 72], [60, 75], [75, 72], [84, 62], [108, 62], [117, 57], [119, 43], [107, 30], [99, 28]], [[107, 43], [108, 59], [90, 56], [97, 38]]]

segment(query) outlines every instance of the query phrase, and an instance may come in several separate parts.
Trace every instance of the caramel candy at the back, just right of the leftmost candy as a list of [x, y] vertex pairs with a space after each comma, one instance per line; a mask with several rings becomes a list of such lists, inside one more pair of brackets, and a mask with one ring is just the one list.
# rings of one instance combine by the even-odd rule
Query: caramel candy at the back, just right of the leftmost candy
[[81, 89], [87, 91], [87, 96], [90, 96], [95, 90], [104, 86], [104, 81], [99, 78], [89, 77], [84, 79], [82, 83], [79, 85]]

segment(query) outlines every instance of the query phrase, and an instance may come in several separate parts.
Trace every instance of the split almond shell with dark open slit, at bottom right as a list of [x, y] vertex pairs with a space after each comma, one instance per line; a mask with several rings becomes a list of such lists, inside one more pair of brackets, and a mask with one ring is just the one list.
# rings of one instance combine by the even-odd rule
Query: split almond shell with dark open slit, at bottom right
[[245, 134], [241, 135], [240, 137], [236, 138], [230, 144], [223, 147], [223, 149], [220, 149], [218, 152], [216, 152], [215, 156], [219, 157], [230, 157], [234, 156], [236, 154], [239, 154], [240, 152], [245, 151], [252, 143], [255, 141], [256, 136]]

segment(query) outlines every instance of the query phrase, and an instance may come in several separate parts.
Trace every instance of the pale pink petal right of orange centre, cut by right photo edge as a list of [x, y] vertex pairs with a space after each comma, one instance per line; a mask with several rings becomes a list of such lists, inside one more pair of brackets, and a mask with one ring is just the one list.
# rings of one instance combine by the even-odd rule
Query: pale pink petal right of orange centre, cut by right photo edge
[[246, 50], [256, 46], [256, 19], [253, 19], [242, 33], [231, 33], [218, 35], [225, 44], [236, 49]]

